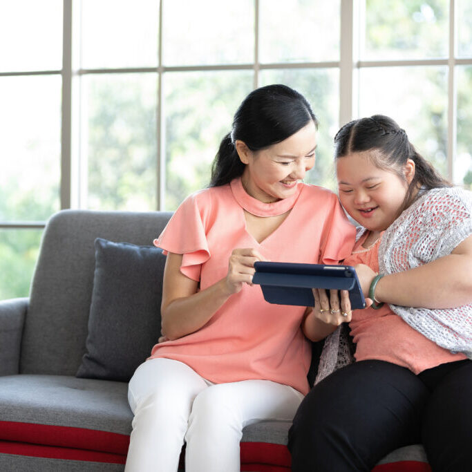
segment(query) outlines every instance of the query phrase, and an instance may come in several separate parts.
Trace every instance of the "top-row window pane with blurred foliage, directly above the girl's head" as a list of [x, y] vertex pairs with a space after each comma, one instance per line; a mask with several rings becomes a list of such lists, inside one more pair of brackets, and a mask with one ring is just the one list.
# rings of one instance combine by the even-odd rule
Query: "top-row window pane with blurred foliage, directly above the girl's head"
[[449, 0], [365, 0], [362, 59], [446, 57]]

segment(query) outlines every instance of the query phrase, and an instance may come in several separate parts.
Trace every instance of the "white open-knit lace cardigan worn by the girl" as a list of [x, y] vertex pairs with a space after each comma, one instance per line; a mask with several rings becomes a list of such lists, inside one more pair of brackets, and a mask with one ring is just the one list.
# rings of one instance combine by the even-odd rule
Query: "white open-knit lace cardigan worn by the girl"
[[[471, 234], [471, 192], [459, 187], [425, 191], [382, 236], [379, 273], [394, 274], [435, 261]], [[472, 359], [472, 304], [444, 310], [399, 305], [390, 309], [438, 346]], [[344, 323], [325, 340], [315, 383], [352, 361], [352, 341]]]

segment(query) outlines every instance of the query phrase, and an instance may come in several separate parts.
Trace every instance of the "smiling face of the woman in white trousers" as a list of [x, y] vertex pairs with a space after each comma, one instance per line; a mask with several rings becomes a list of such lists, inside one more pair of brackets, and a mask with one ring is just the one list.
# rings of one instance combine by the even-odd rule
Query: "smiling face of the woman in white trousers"
[[251, 151], [236, 141], [240, 160], [246, 164], [243, 186], [250, 196], [270, 203], [292, 196], [296, 184], [314, 166], [317, 133], [310, 122], [292, 136], [261, 151]]

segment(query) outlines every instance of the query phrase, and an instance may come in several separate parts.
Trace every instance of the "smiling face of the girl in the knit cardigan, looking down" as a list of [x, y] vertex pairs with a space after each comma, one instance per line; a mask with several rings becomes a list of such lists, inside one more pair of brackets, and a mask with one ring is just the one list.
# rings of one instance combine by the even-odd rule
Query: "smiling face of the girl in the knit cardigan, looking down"
[[339, 200], [357, 223], [370, 231], [384, 231], [397, 218], [408, 185], [415, 175], [415, 163], [408, 160], [402, 172], [380, 169], [369, 151], [356, 152], [336, 160]]

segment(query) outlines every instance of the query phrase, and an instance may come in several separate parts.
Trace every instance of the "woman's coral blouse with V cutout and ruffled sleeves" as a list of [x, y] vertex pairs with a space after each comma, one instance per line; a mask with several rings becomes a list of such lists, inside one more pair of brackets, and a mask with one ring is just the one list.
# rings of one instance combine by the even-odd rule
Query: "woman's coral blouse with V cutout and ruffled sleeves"
[[[258, 243], [246, 230], [243, 209], [290, 214]], [[166, 254], [183, 254], [180, 271], [204, 290], [226, 276], [233, 249], [254, 247], [270, 261], [337, 263], [354, 240], [355, 228], [331, 191], [299, 183], [293, 197], [264, 204], [238, 178], [189, 196], [154, 244]], [[304, 312], [267, 303], [259, 285], [244, 285], [200, 330], [156, 344], [150, 359], [182, 361], [216, 384], [267, 379], [306, 394], [311, 348], [300, 327]]]

